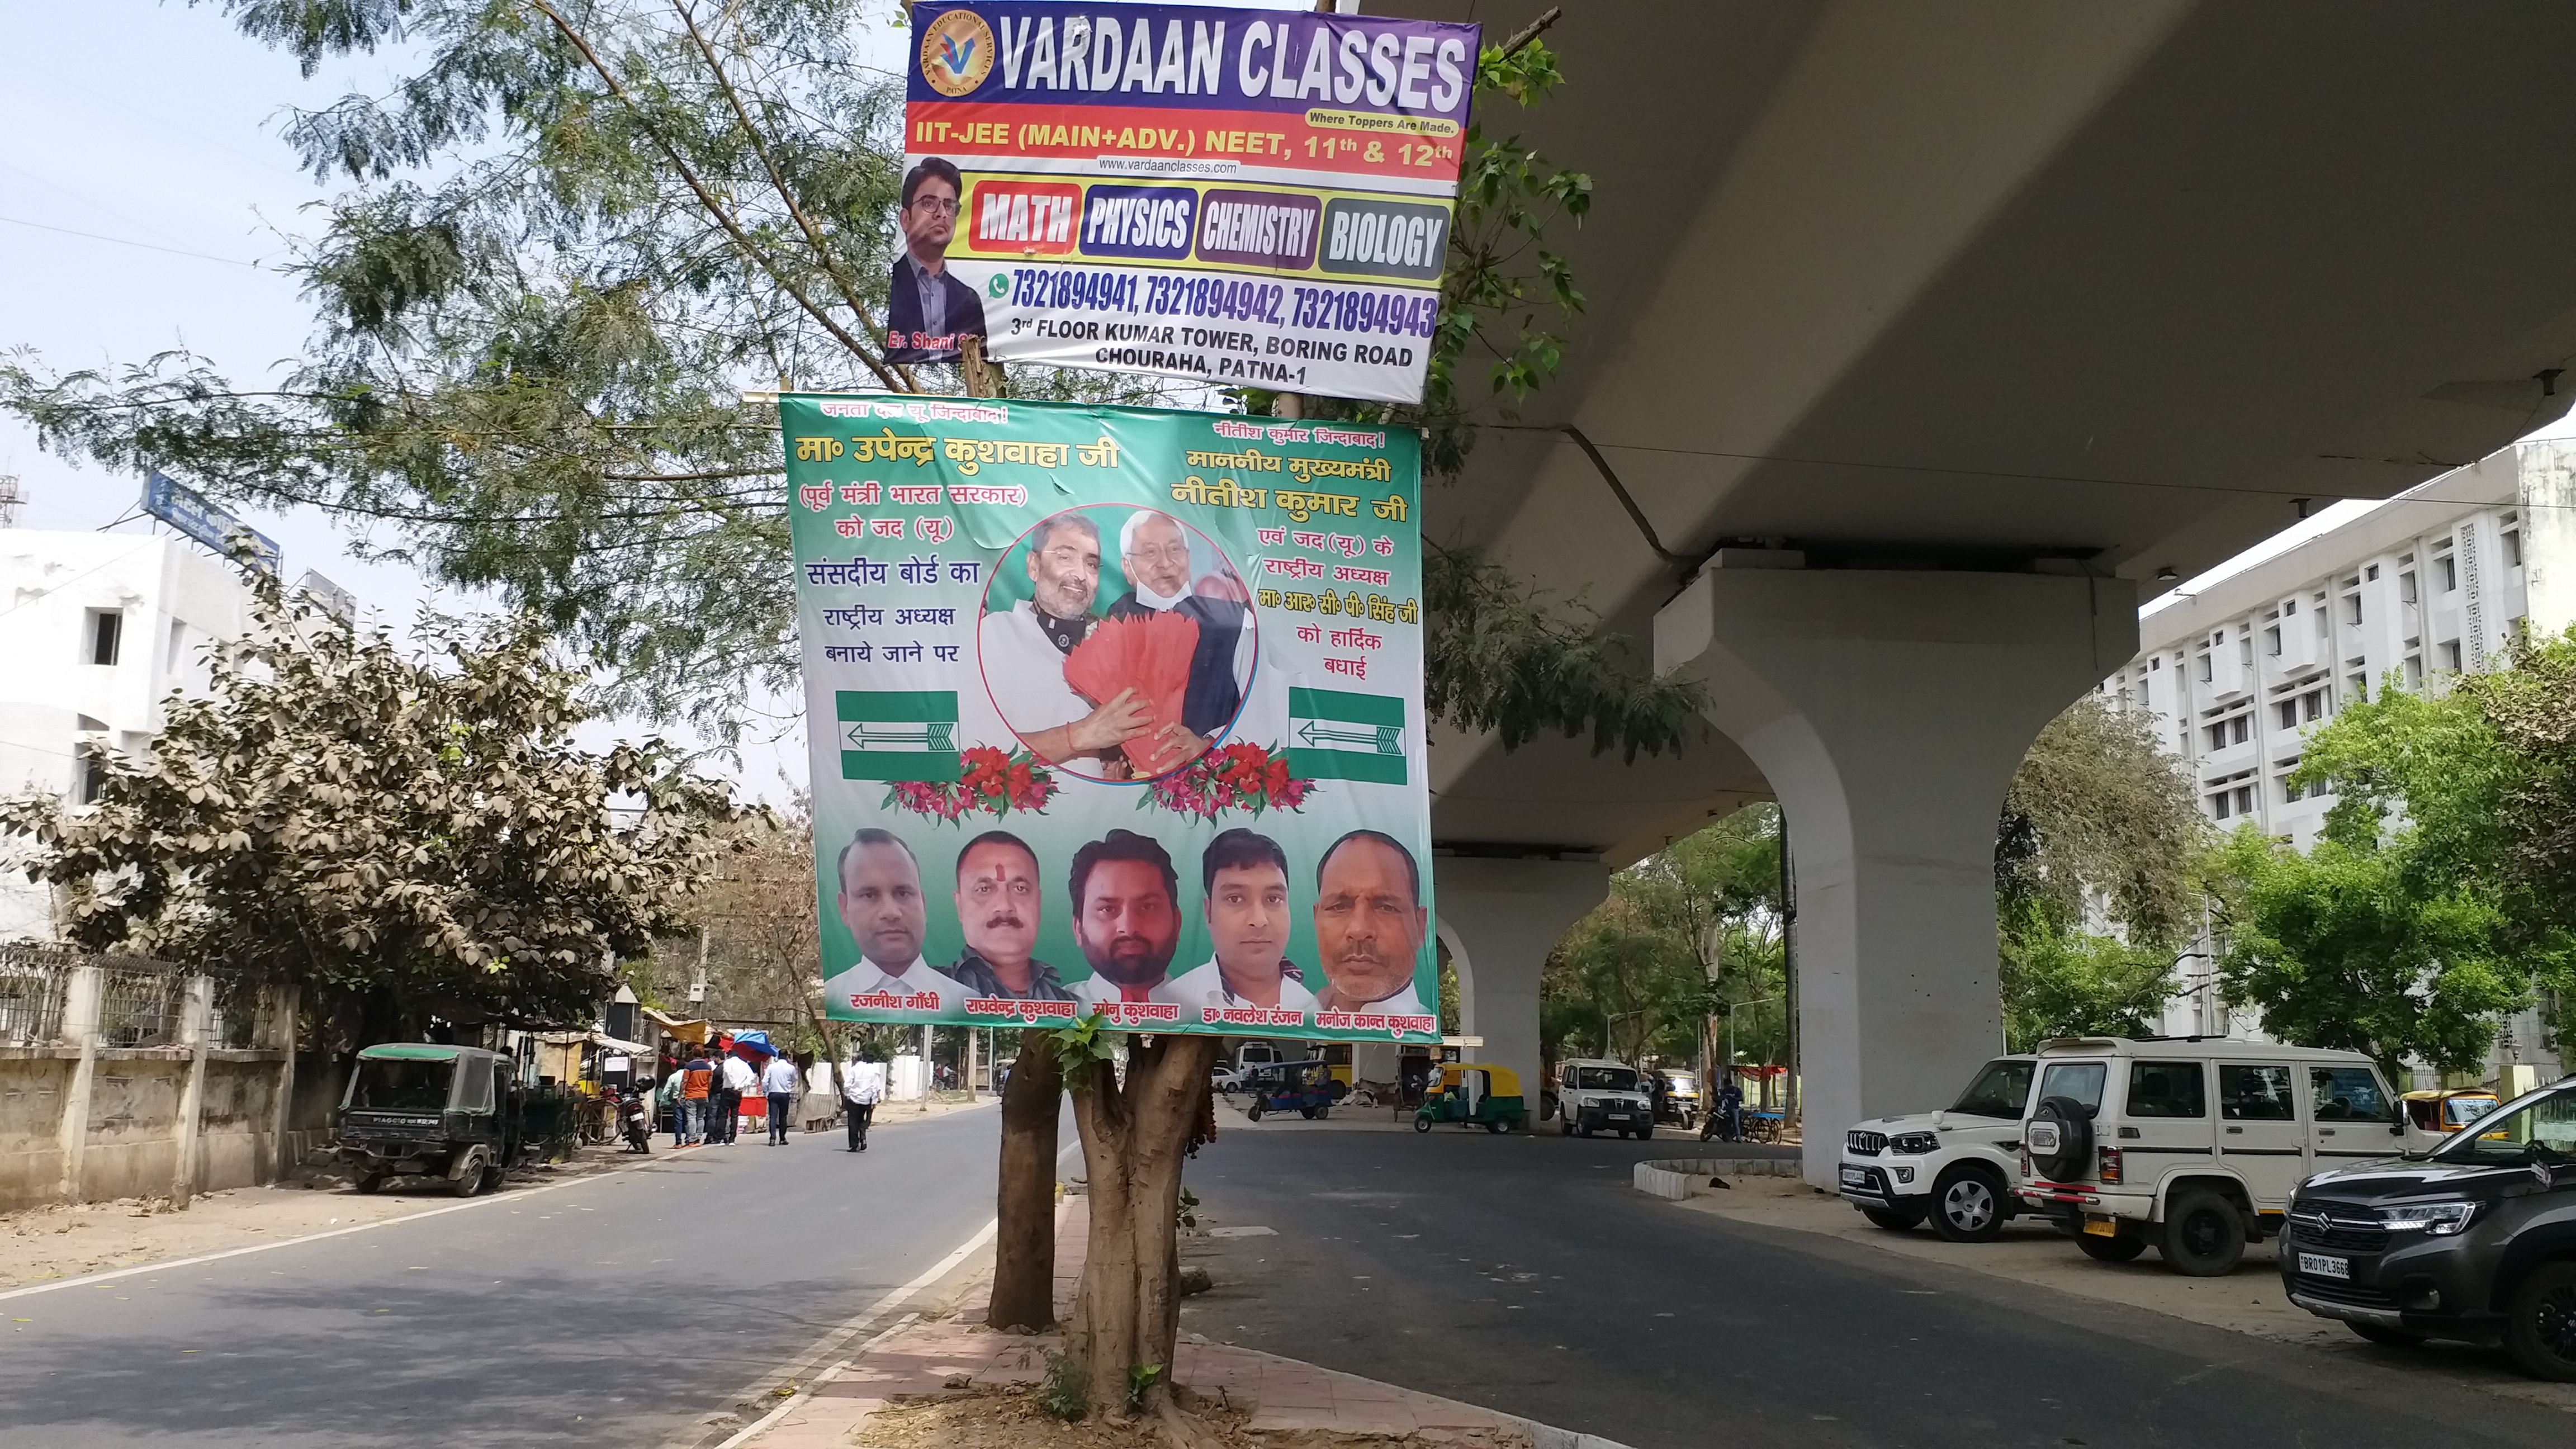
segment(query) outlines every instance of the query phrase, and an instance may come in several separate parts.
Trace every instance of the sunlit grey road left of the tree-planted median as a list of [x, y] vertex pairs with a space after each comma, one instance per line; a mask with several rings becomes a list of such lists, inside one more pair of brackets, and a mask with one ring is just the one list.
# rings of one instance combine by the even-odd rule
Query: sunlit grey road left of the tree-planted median
[[0, 1444], [683, 1439], [981, 1232], [994, 1132], [979, 1109], [863, 1155], [837, 1132], [657, 1147], [634, 1173], [10, 1297]]

